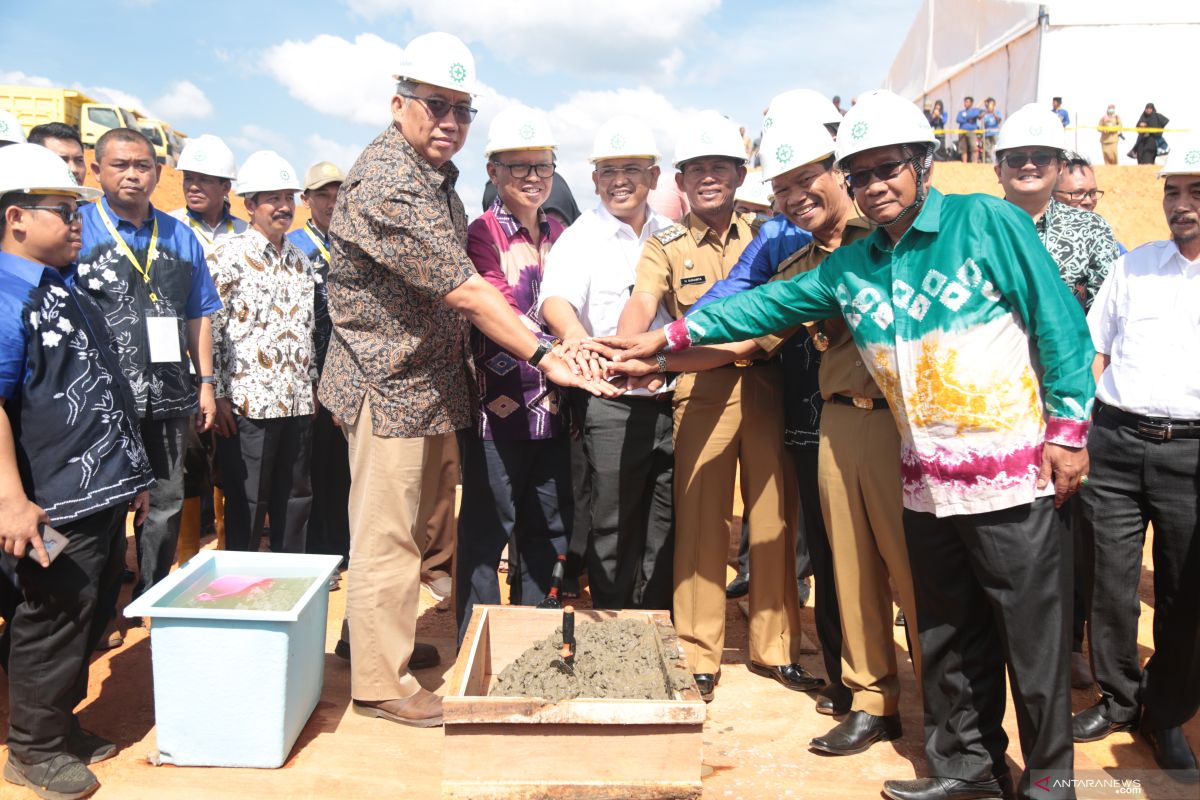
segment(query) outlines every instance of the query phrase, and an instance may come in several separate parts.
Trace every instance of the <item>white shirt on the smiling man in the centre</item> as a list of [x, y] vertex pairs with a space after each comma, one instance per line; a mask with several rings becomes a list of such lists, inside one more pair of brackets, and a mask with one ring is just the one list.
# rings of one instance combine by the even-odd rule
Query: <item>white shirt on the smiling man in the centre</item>
[[[671, 225], [667, 217], [649, 210], [641, 234], [612, 216], [604, 205], [584, 211], [554, 242], [546, 257], [538, 301], [538, 319], [545, 323], [547, 297], [571, 303], [590, 336], [612, 336], [625, 308], [642, 246], [652, 235]], [[650, 330], [671, 321], [660, 305]]]

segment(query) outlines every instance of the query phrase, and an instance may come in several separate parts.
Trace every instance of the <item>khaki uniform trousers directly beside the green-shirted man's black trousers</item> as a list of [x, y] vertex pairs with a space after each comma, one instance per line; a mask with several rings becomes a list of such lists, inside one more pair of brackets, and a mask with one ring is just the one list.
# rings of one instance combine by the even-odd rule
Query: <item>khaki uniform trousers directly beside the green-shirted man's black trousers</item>
[[[900, 680], [888, 577], [910, 631], [917, 630], [917, 603], [901, 516], [900, 433], [892, 414], [826, 403], [817, 481], [841, 608], [841, 680], [854, 693], [856, 711], [895, 714]], [[919, 686], [920, 650], [911, 638]]]

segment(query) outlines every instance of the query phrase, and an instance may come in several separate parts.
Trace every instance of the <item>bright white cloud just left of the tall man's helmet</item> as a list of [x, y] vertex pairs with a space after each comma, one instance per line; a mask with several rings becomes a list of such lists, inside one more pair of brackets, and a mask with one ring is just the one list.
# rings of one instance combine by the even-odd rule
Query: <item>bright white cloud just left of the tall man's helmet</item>
[[266, 50], [268, 72], [306, 106], [352, 122], [383, 127], [390, 112], [403, 48], [374, 34], [349, 42], [322, 34], [307, 42], [287, 41]]

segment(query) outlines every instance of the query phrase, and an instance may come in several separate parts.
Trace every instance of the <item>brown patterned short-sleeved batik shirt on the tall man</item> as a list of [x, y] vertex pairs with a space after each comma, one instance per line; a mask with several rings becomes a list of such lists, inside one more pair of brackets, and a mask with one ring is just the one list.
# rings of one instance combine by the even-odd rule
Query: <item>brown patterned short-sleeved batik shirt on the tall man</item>
[[377, 437], [426, 437], [473, 421], [469, 324], [445, 295], [475, 275], [451, 162], [434, 167], [396, 126], [359, 156], [329, 227], [334, 335], [320, 402]]

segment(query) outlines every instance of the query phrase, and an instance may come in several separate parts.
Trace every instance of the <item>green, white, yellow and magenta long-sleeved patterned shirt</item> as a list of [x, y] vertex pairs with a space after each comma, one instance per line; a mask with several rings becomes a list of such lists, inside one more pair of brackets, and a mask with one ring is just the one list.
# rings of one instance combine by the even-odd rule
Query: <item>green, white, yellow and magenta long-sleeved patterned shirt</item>
[[841, 313], [901, 434], [905, 506], [944, 517], [1032, 503], [1046, 441], [1087, 441], [1094, 384], [1080, 306], [1033, 223], [984, 196], [930, 191], [820, 267], [713, 303], [668, 341], [739, 342]]

